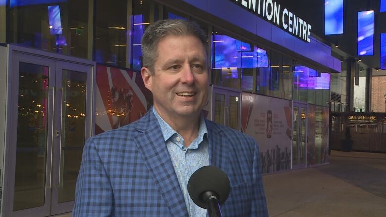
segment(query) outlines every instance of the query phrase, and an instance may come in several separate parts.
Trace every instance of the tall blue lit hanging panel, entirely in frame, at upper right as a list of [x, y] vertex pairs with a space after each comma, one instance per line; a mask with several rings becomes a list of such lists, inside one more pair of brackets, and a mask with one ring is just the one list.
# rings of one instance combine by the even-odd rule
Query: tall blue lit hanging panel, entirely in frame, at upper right
[[374, 10], [358, 12], [358, 56], [374, 54]]

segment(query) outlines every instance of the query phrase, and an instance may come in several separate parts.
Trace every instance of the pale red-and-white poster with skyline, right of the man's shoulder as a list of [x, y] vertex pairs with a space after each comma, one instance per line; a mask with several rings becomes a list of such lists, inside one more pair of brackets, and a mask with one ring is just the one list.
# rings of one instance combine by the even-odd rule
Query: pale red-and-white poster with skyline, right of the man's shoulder
[[241, 107], [242, 132], [259, 144], [263, 173], [290, 169], [292, 102], [242, 93]]

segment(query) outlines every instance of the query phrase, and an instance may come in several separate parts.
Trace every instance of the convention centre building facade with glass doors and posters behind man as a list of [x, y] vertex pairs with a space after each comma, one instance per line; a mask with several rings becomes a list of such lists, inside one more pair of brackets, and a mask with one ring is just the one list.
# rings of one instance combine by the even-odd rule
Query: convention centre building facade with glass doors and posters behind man
[[[207, 33], [203, 112], [256, 139], [263, 173], [328, 163], [329, 112], [346, 109], [355, 66], [291, 8], [244, 0], [0, 2], [2, 217], [71, 211], [87, 138], [151, 108], [140, 40], [160, 19], [194, 20]], [[366, 108], [361, 100], [356, 108]]]

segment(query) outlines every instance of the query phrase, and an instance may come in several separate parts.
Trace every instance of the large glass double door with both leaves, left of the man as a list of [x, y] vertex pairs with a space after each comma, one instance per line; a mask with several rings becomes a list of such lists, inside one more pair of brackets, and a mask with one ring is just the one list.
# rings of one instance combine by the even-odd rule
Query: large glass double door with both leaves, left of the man
[[12, 51], [5, 216], [72, 210], [92, 131], [93, 67]]

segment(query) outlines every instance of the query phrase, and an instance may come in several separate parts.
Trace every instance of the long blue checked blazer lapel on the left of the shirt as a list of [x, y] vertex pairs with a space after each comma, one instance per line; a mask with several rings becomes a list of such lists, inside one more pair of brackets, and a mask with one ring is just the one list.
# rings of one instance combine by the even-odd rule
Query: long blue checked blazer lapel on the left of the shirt
[[188, 216], [184, 196], [154, 113], [150, 110], [138, 126], [137, 131], [142, 133], [135, 139], [137, 148], [170, 213], [175, 217]]

